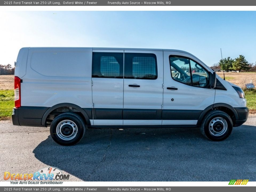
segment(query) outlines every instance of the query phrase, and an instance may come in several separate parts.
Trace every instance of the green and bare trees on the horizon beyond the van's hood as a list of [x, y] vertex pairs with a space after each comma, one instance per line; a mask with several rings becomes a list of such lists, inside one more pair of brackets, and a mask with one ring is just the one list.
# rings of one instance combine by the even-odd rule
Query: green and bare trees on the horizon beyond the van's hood
[[221, 59], [218, 63], [215, 63], [212, 69], [221, 68], [221, 70], [229, 72], [231, 70], [234, 71], [256, 71], [256, 62], [248, 63], [246, 61], [245, 56], [239, 55], [239, 57], [232, 59], [230, 57]]

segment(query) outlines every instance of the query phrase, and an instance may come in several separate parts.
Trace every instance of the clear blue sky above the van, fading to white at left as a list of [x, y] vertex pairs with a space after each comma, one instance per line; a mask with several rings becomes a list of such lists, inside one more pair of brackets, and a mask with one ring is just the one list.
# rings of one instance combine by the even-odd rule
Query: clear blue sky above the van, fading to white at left
[[180, 49], [209, 66], [222, 48], [256, 62], [256, 11], [1, 11], [0, 25], [4, 65], [33, 46]]

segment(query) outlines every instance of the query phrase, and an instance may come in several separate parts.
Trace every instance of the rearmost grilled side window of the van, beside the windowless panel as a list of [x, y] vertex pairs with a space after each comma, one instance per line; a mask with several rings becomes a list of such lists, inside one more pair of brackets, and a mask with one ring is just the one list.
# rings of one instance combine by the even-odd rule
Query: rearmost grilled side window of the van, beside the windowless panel
[[123, 78], [123, 53], [93, 52], [92, 77]]

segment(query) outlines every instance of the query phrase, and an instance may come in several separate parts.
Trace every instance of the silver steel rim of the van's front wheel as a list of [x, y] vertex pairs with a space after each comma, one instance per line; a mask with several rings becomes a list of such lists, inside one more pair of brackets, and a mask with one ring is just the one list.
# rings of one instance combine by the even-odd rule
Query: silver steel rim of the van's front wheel
[[222, 136], [227, 131], [227, 121], [222, 117], [215, 117], [209, 123], [209, 132], [213, 136]]

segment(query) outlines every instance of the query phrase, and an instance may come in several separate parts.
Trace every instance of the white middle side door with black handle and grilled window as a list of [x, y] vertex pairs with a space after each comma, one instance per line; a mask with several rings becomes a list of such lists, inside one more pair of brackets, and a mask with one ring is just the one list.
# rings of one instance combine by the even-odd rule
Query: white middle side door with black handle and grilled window
[[161, 125], [163, 51], [125, 50], [123, 125]]

